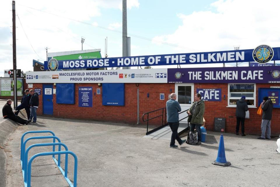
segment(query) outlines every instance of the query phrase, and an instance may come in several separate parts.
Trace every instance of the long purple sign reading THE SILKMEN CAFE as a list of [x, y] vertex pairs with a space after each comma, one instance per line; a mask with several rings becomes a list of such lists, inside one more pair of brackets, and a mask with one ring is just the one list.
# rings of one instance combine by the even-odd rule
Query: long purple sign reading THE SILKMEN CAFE
[[168, 83], [280, 83], [280, 66], [167, 69]]

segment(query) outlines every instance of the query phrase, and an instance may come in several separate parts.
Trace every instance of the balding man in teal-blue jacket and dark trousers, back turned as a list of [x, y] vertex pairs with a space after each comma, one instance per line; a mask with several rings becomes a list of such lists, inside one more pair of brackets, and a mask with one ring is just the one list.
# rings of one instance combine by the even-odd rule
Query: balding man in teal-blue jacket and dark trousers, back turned
[[179, 128], [179, 113], [178, 112], [181, 112], [181, 106], [178, 103], [178, 101], [176, 101], [177, 96], [175, 93], [171, 93], [170, 97], [171, 97], [171, 99], [166, 102], [167, 122], [172, 131], [170, 148], [177, 148], [178, 146], [175, 145], [175, 139], [178, 141], [180, 146], [186, 140], [181, 140], [181, 138], [178, 135], [178, 128]]

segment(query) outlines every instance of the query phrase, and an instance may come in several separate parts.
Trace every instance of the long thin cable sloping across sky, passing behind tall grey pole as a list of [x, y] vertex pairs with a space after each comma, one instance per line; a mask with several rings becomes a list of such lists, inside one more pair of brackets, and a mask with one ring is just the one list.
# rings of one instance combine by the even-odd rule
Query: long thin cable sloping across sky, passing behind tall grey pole
[[[20, 6], [27, 7], [27, 8], [30, 8], [30, 9], [33, 9], [33, 10], [36, 10], [36, 11], [40, 11], [40, 12], [43, 12], [43, 13], [55, 15], [55, 16], [57, 16], [57, 17], [61, 17], [61, 18], [64, 18], [64, 19], [69, 19], [69, 20], [72, 20], [72, 21], [75, 21], [75, 22], [83, 23], [83, 24], [85, 24], [85, 25], [90, 25], [90, 26], [94, 26], [94, 27], [98, 27], [98, 28], [101, 28], [101, 29], [105, 29], [105, 30], [109, 30], [109, 31], [113, 31], [113, 32], [118, 32], [118, 33], [121, 33], [121, 34], [122, 34], [122, 31], [113, 30], [113, 29], [109, 29], [109, 28], [107, 28], [107, 27], [102, 27], [102, 26], [98, 26], [98, 25], [93, 25], [93, 24], [88, 23], [88, 22], [84, 22], [84, 21], [80, 21], [80, 20], [75, 20], [75, 19], [72, 19], [72, 18], [67, 18], [67, 17], [65, 17], [65, 16], [57, 15], [57, 14], [54, 14], [54, 13], [49, 13], [49, 12], [42, 11], [42, 10], [39, 10], [39, 9], [36, 9], [36, 8], [32, 8], [32, 7], [29, 7], [29, 6], [25, 6], [25, 5], [21, 5], [21, 4], [19, 4], [19, 5], [20, 5]], [[178, 47], [178, 48], [182, 48], [182, 49], [188, 49], [188, 50], [191, 50], [191, 51], [203, 52], [203, 51], [200, 51], [200, 50], [191, 49], [191, 48], [179, 46], [179, 45], [176, 45], [176, 44], [167, 43], [167, 42], [164, 42], [164, 41], [159, 41], [159, 40], [154, 40], [154, 39], [150, 39], [150, 38], [146, 38], [146, 37], [141, 37], [141, 36], [138, 36], [138, 35], [135, 35], [135, 34], [127, 33], [127, 35], [133, 36], [133, 37], [136, 37], [136, 38], [140, 38], [140, 39], [145, 39], [145, 40], [149, 40], [149, 41], [154, 41], [154, 42], [157, 42], [157, 43], [161, 43], [161, 44], [165, 44], [165, 45], [169, 45], [169, 46], [173, 46], [173, 47]]]

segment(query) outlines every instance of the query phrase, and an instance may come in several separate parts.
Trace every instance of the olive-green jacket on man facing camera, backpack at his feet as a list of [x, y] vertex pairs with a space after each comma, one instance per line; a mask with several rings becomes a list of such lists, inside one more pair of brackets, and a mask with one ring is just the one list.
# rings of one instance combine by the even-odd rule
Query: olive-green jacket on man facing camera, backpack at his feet
[[203, 115], [205, 112], [205, 104], [203, 100], [194, 102], [188, 111], [190, 111], [190, 113], [192, 114], [191, 117], [190, 116], [188, 117], [189, 123], [199, 124], [199, 125], [203, 124]]

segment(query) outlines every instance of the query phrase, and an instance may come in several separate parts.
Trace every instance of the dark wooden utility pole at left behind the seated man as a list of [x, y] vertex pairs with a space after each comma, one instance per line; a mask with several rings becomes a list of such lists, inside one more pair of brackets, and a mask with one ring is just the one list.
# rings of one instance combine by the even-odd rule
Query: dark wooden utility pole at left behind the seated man
[[17, 54], [16, 54], [16, 37], [15, 37], [15, 1], [12, 1], [13, 13], [13, 71], [14, 71], [14, 109], [17, 107]]

